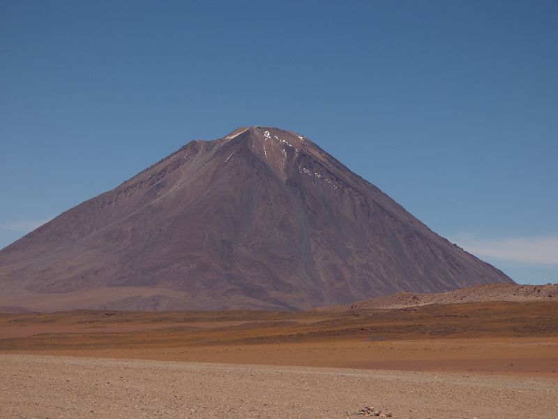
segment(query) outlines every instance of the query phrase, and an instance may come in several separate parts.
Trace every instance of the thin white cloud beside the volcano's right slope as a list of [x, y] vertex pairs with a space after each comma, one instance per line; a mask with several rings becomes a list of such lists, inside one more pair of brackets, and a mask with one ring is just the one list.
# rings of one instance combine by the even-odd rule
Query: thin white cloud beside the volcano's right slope
[[452, 237], [469, 253], [518, 263], [558, 266], [558, 236], [482, 238], [470, 234]]

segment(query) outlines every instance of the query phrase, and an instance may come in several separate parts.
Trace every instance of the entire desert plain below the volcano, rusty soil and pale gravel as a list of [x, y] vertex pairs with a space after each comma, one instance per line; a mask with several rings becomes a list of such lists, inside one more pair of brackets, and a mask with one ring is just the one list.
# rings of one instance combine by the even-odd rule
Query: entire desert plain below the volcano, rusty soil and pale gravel
[[0, 315], [1, 418], [558, 418], [555, 301]]

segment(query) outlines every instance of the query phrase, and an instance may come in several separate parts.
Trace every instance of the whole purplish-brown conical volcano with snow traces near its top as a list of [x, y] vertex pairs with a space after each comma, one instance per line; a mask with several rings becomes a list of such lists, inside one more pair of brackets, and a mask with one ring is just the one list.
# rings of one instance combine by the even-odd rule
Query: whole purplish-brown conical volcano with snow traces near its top
[[0, 251], [15, 309], [306, 309], [512, 283], [308, 138], [195, 140]]

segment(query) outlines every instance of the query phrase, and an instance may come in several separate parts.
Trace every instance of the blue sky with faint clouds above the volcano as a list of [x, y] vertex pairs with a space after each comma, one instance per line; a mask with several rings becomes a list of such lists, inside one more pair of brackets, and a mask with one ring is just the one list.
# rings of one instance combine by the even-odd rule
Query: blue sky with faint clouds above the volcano
[[193, 139], [306, 135], [558, 282], [558, 1], [0, 0], [0, 247]]

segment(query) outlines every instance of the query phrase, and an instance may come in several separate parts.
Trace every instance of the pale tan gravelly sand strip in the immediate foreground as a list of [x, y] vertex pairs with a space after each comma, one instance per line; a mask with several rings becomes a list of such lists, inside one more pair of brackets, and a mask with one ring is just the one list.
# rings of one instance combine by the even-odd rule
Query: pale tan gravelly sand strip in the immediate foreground
[[0, 401], [0, 418], [558, 418], [558, 379], [0, 354]]

